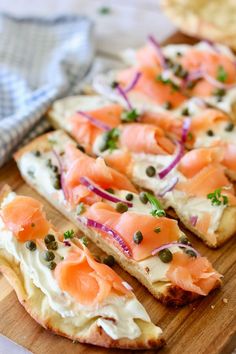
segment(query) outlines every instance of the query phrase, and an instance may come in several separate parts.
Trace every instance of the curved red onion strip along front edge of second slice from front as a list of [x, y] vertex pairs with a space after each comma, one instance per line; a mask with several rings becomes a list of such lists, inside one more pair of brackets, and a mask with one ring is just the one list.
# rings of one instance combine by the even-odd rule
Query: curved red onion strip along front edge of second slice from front
[[131, 252], [129, 246], [127, 245], [127, 243], [125, 242], [125, 240], [116, 231], [112, 230], [109, 226], [106, 226], [104, 224], [101, 224], [100, 222], [97, 222], [95, 220], [88, 219], [85, 217], [78, 217], [78, 220], [88, 227], [98, 229], [98, 230], [105, 232], [106, 234], [112, 236], [112, 238], [119, 244], [119, 246], [123, 250], [124, 254], [127, 257], [132, 257], [132, 252]]

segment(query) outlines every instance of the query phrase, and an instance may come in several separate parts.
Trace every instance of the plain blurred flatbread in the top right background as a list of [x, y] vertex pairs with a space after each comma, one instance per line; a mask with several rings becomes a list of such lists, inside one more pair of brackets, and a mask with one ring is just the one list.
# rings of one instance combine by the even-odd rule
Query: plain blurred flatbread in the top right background
[[236, 0], [162, 0], [162, 9], [182, 32], [236, 50]]

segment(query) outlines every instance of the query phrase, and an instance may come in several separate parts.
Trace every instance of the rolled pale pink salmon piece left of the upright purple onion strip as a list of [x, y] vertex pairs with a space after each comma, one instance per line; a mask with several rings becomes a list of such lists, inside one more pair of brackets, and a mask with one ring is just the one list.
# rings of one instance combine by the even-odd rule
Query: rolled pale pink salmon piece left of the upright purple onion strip
[[173, 154], [175, 151], [175, 145], [165, 137], [163, 130], [151, 124], [123, 125], [120, 145], [136, 153]]

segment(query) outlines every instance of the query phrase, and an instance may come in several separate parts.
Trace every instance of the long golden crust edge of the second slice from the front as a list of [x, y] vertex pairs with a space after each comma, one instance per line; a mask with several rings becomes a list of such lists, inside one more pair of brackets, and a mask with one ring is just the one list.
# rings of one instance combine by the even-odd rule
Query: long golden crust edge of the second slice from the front
[[[50, 133], [48, 133], [50, 134]], [[40, 149], [41, 151], [47, 151], [50, 146], [45, 144], [45, 140], [47, 140], [48, 134], [41, 136], [26, 147], [24, 147], [23, 152], [22, 150], [18, 151], [14, 157], [16, 162], [18, 163], [20, 169], [19, 159], [21, 158], [22, 154], [26, 151], [32, 151], [35, 149]], [[43, 142], [43, 144], [41, 144]], [[42, 148], [43, 147], [43, 148]], [[31, 179], [26, 175], [23, 174], [21, 171], [22, 177], [25, 179], [26, 183], [29, 184], [33, 189], [35, 189], [40, 195], [42, 195], [45, 199], [49, 201], [57, 210], [59, 210], [66, 218], [72, 221], [88, 238], [90, 238], [99, 248], [101, 248], [105, 253], [113, 255], [116, 262], [128, 273], [133, 275], [136, 279], [138, 279], [149, 291], [150, 293], [161, 301], [165, 305], [171, 306], [183, 306], [187, 303], [194, 301], [195, 299], [199, 298], [200, 295], [185, 291], [178, 286], [175, 286], [171, 283], [166, 282], [156, 282], [152, 283], [147, 275], [147, 272], [143, 270], [143, 268], [139, 267], [137, 262], [132, 259], [127, 258], [117, 247], [115, 247], [112, 243], [108, 243], [105, 241], [99, 233], [94, 230], [88, 229], [85, 225], [79, 222], [76, 217], [74, 217], [68, 210], [66, 210], [62, 205], [58, 203], [57, 200], [53, 199], [45, 193], [43, 187], [35, 186]], [[221, 282], [217, 282], [215, 284], [215, 288], [220, 287]]]

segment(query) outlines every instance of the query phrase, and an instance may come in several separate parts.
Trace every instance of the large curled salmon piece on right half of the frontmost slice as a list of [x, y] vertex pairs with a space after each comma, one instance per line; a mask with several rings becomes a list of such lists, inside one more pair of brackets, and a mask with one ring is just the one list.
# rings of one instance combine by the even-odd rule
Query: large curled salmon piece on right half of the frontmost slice
[[100, 303], [112, 293], [132, 296], [122, 279], [107, 265], [96, 262], [86, 247], [71, 251], [54, 275], [59, 287], [82, 305]]

